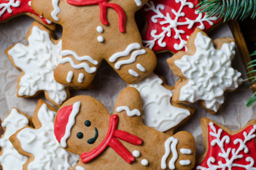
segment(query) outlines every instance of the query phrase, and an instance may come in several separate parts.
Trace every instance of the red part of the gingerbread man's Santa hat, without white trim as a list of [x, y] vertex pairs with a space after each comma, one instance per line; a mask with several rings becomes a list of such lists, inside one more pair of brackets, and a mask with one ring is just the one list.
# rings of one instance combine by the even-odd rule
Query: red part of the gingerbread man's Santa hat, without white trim
[[56, 115], [55, 125], [54, 125], [54, 135], [58, 142], [65, 135], [66, 126], [69, 122], [69, 115], [72, 112], [73, 105], [63, 107]]

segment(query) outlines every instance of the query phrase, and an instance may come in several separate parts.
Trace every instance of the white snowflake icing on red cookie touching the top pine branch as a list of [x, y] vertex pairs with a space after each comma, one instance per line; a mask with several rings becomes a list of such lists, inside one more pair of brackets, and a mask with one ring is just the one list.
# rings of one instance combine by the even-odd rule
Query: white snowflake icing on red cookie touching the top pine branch
[[[163, 42], [163, 39], [165, 38], [165, 35], [167, 35], [167, 37], [171, 36], [171, 30], [170, 29], [174, 29], [175, 31], [175, 39], [179, 39], [180, 40], [180, 44], [174, 44], [174, 48], [175, 50], [179, 51], [181, 50], [183, 47], [185, 47], [185, 50], [187, 51], [187, 46], [186, 43], [187, 41], [182, 39], [182, 37], [180, 36], [180, 34], [184, 34], [185, 31], [184, 30], [178, 30], [177, 26], [184, 26], [184, 25], [188, 25], [187, 28], [191, 29], [194, 25], [194, 23], [199, 22], [200, 26], [198, 26], [198, 28], [200, 28], [201, 30], [205, 29], [204, 23], [203, 21], [207, 21], [209, 23], [209, 25], [214, 25], [214, 23], [211, 20], [216, 20], [217, 17], [207, 17], [207, 15], [204, 15], [202, 13], [198, 13], [197, 11], [195, 12], [195, 14], [198, 14], [198, 17], [195, 20], [190, 20], [189, 18], [185, 18], [186, 21], [185, 22], [178, 22], [179, 17], [184, 17], [185, 13], [182, 12], [183, 7], [184, 6], [188, 6], [189, 8], [194, 8], [194, 4], [193, 3], [189, 3], [186, 2], [186, 0], [175, 0], [175, 2], [177, 4], [181, 3], [180, 9], [179, 11], [175, 11], [174, 9], [172, 9], [173, 14], [175, 14], [175, 19], [170, 18], [170, 14], [167, 12], [166, 16], [164, 14], [162, 14], [161, 10], [164, 10], [165, 7], [161, 4], [157, 5], [157, 7], [155, 7], [154, 3], [152, 1], [149, 1], [146, 3], [146, 6], [148, 8], [145, 8], [145, 11], [154, 11], [157, 15], [153, 15], [151, 20], [154, 23], [157, 23], [158, 20], [157, 18], [162, 18], [165, 19], [164, 21], [160, 22], [160, 25], [165, 25], [165, 24], [169, 24], [168, 27], [162, 27], [163, 32], [156, 35], [157, 34], [157, 30], [152, 30], [151, 31], [151, 36], [154, 38], [153, 40], [143, 40], [142, 43], [146, 44], [145, 46], [148, 48], [153, 48], [153, 46], [155, 45], [156, 41], [158, 40], [158, 45], [161, 47], [166, 47], [166, 42]], [[186, 37], [187, 39], [189, 38], [189, 36]]]

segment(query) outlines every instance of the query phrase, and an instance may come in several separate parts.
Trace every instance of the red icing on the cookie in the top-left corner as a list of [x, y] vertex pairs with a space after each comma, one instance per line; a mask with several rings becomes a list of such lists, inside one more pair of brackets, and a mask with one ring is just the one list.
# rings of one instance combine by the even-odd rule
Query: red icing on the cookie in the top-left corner
[[[10, 7], [11, 10], [12, 10], [12, 13], [8, 13], [7, 10], [2, 14], [2, 16], [0, 16], [0, 21], [4, 21], [10, 17], [13, 17], [15, 15], [18, 15], [18, 14], [22, 14], [22, 13], [25, 13], [25, 12], [29, 12], [29, 13], [32, 13], [34, 15], [37, 15], [39, 16], [38, 14], [35, 13], [35, 11], [29, 6], [29, 2], [31, 0], [16, 0], [15, 3], [17, 1], [20, 1], [20, 5], [18, 7]], [[6, 0], [1, 0], [0, 1], [0, 4], [8, 4], [9, 1], [6, 1]], [[2, 8], [2, 10], [4, 9], [5, 7]], [[0, 9], [0, 11], [2, 11]], [[39, 16], [40, 17], [40, 16]], [[40, 17], [41, 18], [41, 17]], [[46, 21], [46, 19], [43, 17], [41, 18], [42, 21], [44, 23], [46, 23], [47, 25], [49, 25], [49, 23]]]

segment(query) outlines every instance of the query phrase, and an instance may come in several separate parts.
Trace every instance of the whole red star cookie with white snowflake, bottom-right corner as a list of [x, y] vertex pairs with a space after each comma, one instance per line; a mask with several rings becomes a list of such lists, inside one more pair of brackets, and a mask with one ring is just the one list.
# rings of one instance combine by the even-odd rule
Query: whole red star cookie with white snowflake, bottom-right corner
[[238, 131], [230, 131], [208, 119], [201, 119], [204, 153], [197, 159], [196, 169], [255, 169], [256, 122], [252, 120]]

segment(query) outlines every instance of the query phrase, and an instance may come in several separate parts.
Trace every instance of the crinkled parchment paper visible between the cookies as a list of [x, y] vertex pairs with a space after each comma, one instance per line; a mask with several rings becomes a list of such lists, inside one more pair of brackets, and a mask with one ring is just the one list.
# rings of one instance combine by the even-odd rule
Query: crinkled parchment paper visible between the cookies
[[[45, 98], [44, 93], [40, 93], [36, 98], [17, 98], [17, 78], [20, 75], [18, 71], [8, 60], [4, 51], [11, 45], [21, 42], [28, 44], [25, 36], [34, 20], [27, 16], [20, 16], [12, 19], [8, 23], [0, 24], [0, 118], [3, 119], [12, 107], [16, 107], [28, 115], [32, 116], [36, 108], [37, 101]], [[56, 38], [61, 37], [61, 27], [57, 27], [55, 31]], [[211, 33], [208, 34], [212, 39], [221, 37], [232, 37], [231, 31], [227, 23], [223, 23]], [[155, 70], [156, 74], [164, 76], [168, 85], [174, 86], [178, 80], [170, 71], [166, 59], [172, 57], [170, 53], [158, 54], [158, 64]], [[242, 77], [245, 78], [245, 69], [236, 50], [236, 57], [233, 60], [232, 66], [242, 72]], [[103, 61], [97, 71], [93, 81], [94, 90], [72, 90], [71, 96], [75, 95], [91, 95], [96, 98], [113, 113], [115, 102], [119, 92], [127, 86], [127, 84], [118, 76], [114, 69]], [[216, 122], [226, 126], [231, 130], [237, 130], [247, 124], [250, 120], [256, 118], [253, 114], [256, 109], [256, 104], [250, 108], [246, 108], [246, 102], [252, 95], [252, 91], [246, 88], [248, 81], [244, 82], [236, 91], [225, 92], [225, 102], [217, 114], [212, 115], [200, 108], [198, 103], [192, 104], [196, 108], [194, 115], [181, 127], [178, 131], [188, 131], [194, 135], [197, 145], [197, 155], [203, 152], [202, 131], [200, 119], [208, 117]], [[49, 102], [48, 102], [49, 103]]]

